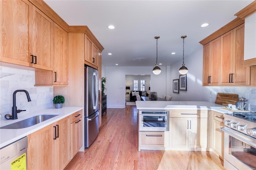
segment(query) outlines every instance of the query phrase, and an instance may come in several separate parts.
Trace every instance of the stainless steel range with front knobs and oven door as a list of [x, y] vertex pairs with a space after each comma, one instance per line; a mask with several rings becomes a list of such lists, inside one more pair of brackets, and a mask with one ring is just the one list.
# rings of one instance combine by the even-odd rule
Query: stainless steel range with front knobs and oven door
[[224, 168], [256, 170], [256, 113], [224, 114]]

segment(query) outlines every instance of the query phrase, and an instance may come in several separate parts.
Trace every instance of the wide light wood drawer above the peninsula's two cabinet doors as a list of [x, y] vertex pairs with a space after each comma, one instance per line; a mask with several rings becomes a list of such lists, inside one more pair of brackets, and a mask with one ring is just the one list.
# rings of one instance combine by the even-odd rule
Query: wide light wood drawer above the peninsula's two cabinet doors
[[170, 117], [208, 118], [207, 110], [170, 110]]

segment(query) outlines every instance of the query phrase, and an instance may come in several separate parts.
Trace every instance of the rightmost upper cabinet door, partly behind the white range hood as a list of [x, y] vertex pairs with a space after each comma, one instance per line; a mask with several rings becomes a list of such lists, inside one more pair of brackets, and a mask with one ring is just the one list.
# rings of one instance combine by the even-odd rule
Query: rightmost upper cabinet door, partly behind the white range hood
[[244, 24], [234, 28], [234, 85], [250, 85], [250, 67], [244, 67]]

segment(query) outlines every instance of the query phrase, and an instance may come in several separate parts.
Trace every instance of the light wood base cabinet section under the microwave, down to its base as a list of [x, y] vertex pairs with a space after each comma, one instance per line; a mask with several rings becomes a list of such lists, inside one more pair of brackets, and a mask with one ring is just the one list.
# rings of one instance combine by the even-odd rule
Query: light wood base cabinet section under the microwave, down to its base
[[169, 146], [169, 132], [139, 132], [140, 149], [164, 150]]

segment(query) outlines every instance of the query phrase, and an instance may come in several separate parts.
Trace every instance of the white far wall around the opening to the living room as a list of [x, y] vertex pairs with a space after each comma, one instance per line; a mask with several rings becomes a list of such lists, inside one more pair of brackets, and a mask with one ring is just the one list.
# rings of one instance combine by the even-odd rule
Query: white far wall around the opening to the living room
[[[166, 93], [166, 67], [160, 67], [160, 75], [154, 75], [152, 67], [106, 67], [106, 95], [108, 108], [125, 108], [125, 75], [150, 75], [150, 91], [162, 96]], [[159, 88], [160, 87], [160, 88]]]

